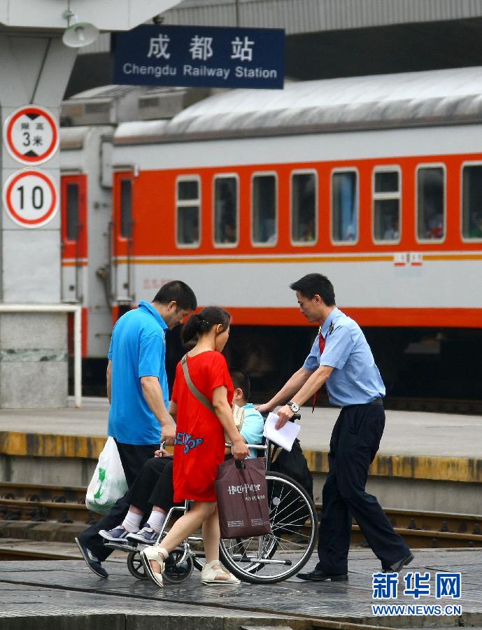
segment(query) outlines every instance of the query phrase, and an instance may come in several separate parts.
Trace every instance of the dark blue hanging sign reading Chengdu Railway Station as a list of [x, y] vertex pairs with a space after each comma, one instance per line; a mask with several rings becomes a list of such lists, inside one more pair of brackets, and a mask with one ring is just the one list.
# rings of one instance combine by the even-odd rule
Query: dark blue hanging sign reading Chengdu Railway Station
[[112, 41], [121, 85], [283, 89], [283, 29], [142, 25]]

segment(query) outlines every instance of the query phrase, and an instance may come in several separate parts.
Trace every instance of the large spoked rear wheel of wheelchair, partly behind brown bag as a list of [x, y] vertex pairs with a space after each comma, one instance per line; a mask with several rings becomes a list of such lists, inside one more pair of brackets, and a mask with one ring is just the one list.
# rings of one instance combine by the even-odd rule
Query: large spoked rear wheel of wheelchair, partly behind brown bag
[[293, 479], [266, 473], [271, 534], [221, 540], [222, 563], [240, 580], [273, 584], [304, 567], [315, 546], [318, 518], [313, 501]]

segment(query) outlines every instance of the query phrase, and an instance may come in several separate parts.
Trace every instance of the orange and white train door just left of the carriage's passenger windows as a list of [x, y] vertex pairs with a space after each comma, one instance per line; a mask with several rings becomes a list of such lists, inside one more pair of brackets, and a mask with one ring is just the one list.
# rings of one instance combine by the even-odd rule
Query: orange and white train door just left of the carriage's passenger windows
[[132, 252], [134, 246], [134, 221], [132, 198], [134, 174], [116, 173], [114, 176], [114, 208], [111, 225], [111, 277], [113, 279], [113, 304], [118, 307], [118, 315], [132, 306], [134, 278]]

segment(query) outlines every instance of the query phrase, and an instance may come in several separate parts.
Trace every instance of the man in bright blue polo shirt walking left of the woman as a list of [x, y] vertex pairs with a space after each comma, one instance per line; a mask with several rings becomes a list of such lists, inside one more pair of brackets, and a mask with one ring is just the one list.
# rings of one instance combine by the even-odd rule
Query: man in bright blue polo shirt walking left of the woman
[[[173, 444], [176, 425], [167, 410], [164, 331], [180, 324], [196, 308], [192, 289], [174, 280], [162, 286], [151, 304], [142, 300], [138, 309], [122, 315], [114, 326], [107, 366], [111, 404], [108, 435], [117, 444], [129, 487], [159, 448], [161, 439]], [[118, 524], [127, 510], [129, 503], [120, 498], [104, 519], [76, 538], [87, 566], [99, 577], [108, 576], [101, 561], [111, 553], [104, 547], [99, 531]]]

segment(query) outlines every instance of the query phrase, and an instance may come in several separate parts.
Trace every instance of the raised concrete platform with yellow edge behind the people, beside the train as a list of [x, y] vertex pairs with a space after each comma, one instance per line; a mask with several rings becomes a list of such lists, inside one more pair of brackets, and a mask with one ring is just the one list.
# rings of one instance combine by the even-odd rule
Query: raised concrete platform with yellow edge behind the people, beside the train
[[[0, 479], [86, 485], [104, 446], [108, 405], [1, 409]], [[320, 499], [339, 409], [302, 409], [300, 440]], [[387, 411], [369, 491], [385, 507], [482, 514], [482, 416]], [[38, 459], [42, 458], [42, 466]]]

